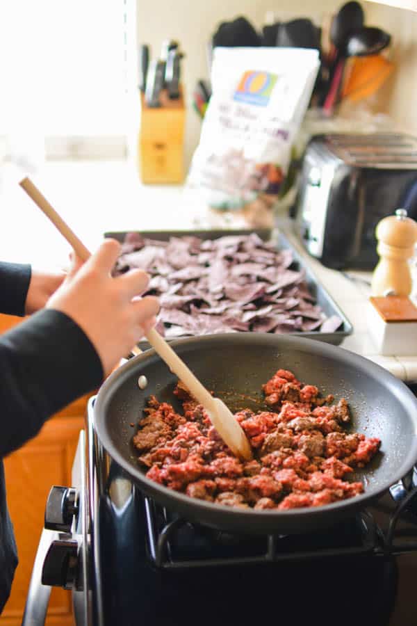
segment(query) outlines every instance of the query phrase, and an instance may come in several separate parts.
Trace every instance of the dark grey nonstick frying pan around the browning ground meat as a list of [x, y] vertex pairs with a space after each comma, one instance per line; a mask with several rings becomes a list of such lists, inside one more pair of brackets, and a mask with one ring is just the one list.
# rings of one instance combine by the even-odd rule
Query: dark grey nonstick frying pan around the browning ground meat
[[[365, 492], [327, 506], [247, 511], [174, 492], [146, 478], [131, 443], [150, 394], [178, 407], [172, 395], [176, 377], [153, 350], [147, 351], [115, 371], [99, 390], [97, 435], [143, 492], [190, 521], [243, 533], [300, 533], [326, 527], [370, 504], [417, 462], [417, 400], [400, 380], [369, 360], [311, 339], [261, 333], [193, 337], [171, 345], [232, 410], [260, 408], [262, 383], [282, 367], [302, 382], [317, 385], [324, 394], [345, 397], [352, 409], [352, 430], [382, 440], [377, 458], [355, 473], [356, 479], [363, 480]], [[142, 374], [149, 381], [143, 391], [138, 387]], [[250, 399], [242, 397], [246, 395]]]

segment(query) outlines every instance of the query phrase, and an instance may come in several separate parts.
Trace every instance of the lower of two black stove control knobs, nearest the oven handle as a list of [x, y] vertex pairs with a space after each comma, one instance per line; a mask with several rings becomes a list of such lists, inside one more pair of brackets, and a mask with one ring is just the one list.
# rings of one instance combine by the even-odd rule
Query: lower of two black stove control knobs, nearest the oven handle
[[44, 559], [42, 585], [72, 589], [76, 584], [78, 560], [76, 540], [53, 541]]

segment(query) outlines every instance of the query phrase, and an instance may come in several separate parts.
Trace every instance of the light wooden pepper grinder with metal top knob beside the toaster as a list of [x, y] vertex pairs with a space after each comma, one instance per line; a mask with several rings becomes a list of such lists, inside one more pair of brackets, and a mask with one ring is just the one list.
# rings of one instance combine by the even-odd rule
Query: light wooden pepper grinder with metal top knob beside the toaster
[[407, 217], [405, 209], [379, 222], [375, 230], [378, 239], [379, 262], [373, 273], [373, 296], [409, 296], [411, 270], [409, 259], [414, 256], [417, 223]]

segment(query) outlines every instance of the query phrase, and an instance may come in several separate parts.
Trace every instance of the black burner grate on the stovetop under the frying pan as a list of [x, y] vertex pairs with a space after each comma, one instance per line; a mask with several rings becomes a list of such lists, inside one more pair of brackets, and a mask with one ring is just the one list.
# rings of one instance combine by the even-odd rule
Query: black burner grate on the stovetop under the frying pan
[[[279, 536], [240, 536], [191, 524], [145, 497], [148, 556], [156, 568], [184, 570], [414, 552], [417, 517], [410, 506], [416, 494], [417, 486], [412, 484], [391, 511], [385, 531], [370, 511], [362, 511], [337, 524], [332, 532]], [[400, 529], [402, 519], [408, 526]]]

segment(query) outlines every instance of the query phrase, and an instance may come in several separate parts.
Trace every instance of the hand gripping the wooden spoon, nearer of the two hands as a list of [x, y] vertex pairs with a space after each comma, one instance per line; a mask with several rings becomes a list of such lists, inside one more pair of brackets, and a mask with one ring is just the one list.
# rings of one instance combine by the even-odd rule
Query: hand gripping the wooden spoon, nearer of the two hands
[[105, 375], [154, 326], [159, 310], [157, 298], [137, 298], [147, 288], [147, 273], [132, 270], [111, 276], [119, 254], [120, 244], [106, 239], [84, 264], [75, 258], [67, 278], [47, 303], [47, 308], [62, 311], [83, 329]]

